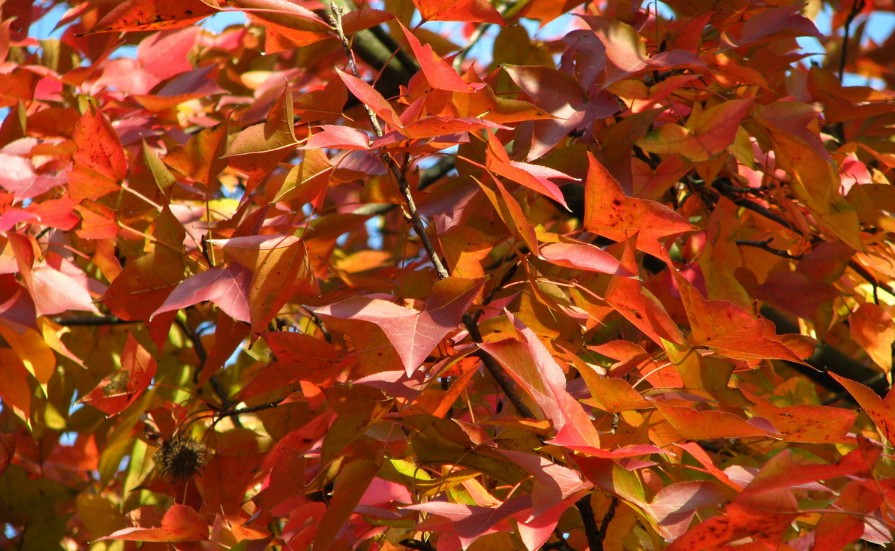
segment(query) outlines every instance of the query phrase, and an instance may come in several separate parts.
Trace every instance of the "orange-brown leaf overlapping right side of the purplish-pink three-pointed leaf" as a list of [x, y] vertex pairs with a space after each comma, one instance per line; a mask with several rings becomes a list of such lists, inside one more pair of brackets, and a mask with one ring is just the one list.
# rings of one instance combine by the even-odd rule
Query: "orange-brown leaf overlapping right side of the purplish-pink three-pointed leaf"
[[318, 293], [304, 242], [295, 236], [254, 235], [209, 242], [221, 245], [228, 259], [252, 271], [248, 302], [254, 332], [263, 331], [296, 293]]

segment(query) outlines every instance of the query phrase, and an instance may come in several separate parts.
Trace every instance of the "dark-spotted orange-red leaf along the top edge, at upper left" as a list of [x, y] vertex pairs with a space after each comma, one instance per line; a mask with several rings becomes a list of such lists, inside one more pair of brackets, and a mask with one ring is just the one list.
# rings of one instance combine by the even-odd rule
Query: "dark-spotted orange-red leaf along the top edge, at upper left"
[[179, 29], [215, 11], [200, 0], [125, 0], [100, 19], [87, 34]]

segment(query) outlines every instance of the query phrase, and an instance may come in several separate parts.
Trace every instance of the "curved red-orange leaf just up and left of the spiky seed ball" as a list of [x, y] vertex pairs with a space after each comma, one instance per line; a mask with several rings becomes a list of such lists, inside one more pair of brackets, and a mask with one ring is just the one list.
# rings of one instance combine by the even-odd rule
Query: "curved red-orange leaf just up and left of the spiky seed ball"
[[105, 377], [81, 401], [106, 415], [117, 415], [133, 404], [152, 383], [155, 359], [132, 334], [121, 353], [121, 369]]

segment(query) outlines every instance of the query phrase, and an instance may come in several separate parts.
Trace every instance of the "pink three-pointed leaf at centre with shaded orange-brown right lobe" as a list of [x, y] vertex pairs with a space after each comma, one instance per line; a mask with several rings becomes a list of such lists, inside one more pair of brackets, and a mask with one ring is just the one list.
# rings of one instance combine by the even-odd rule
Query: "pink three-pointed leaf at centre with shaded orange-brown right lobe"
[[324, 316], [375, 323], [388, 337], [412, 375], [438, 343], [457, 329], [484, 282], [457, 277], [432, 286], [422, 311], [379, 298], [352, 297], [315, 311]]

